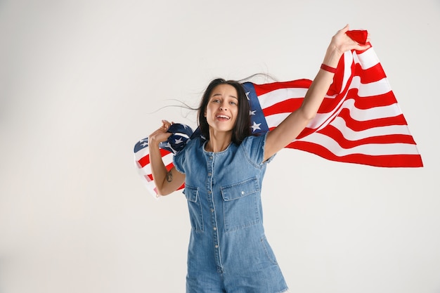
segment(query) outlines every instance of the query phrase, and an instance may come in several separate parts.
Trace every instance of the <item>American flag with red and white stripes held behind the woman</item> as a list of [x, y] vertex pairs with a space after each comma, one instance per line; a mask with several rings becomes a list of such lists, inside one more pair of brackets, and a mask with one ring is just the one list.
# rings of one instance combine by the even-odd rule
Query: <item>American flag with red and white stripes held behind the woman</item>
[[[356, 32], [366, 35], [366, 31]], [[300, 107], [311, 80], [242, 85], [250, 102], [252, 134], [258, 135], [276, 128]], [[185, 136], [190, 139], [190, 134]], [[144, 147], [140, 148], [142, 144]], [[150, 192], [156, 195], [146, 139], [136, 146], [139, 171]], [[315, 119], [286, 148], [304, 150], [336, 162], [374, 167], [423, 166], [373, 47], [344, 53]], [[163, 145], [162, 158], [168, 169], [172, 168], [173, 152], [175, 148]]]

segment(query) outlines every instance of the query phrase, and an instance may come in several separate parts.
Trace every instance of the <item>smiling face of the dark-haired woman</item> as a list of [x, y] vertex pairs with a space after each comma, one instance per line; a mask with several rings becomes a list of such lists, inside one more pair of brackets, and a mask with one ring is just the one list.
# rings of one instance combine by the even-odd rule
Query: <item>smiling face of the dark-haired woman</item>
[[232, 131], [238, 116], [238, 93], [229, 84], [214, 87], [209, 96], [205, 117], [214, 131]]

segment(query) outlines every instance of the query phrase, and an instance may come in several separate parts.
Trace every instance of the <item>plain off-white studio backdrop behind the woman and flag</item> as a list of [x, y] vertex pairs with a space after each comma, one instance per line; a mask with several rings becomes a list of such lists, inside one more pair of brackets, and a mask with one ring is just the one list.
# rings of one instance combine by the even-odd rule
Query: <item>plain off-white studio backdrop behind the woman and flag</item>
[[[184, 292], [181, 193], [155, 200], [134, 143], [195, 126], [211, 79], [313, 79], [367, 29], [425, 167], [282, 150], [265, 225], [291, 292], [440, 292], [440, 1], [0, 1], [0, 292]], [[151, 114], [151, 112], [154, 112]]]

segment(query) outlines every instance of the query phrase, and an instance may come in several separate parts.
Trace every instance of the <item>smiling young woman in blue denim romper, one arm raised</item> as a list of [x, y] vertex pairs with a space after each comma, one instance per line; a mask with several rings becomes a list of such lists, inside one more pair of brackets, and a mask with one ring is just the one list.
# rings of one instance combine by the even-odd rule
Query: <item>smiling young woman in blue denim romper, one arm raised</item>
[[[276, 129], [251, 136], [249, 104], [241, 84], [215, 79], [200, 103], [195, 138], [167, 171], [159, 143], [171, 135], [166, 120], [150, 134], [150, 164], [160, 195], [185, 183], [190, 211], [187, 293], [286, 292], [287, 285], [264, 235], [261, 183], [266, 164], [315, 117], [344, 51], [365, 50], [350, 39], [348, 25], [332, 37], [323, 66], [301, 108]], [[324, 68], [324, 69], [323, 69]]]

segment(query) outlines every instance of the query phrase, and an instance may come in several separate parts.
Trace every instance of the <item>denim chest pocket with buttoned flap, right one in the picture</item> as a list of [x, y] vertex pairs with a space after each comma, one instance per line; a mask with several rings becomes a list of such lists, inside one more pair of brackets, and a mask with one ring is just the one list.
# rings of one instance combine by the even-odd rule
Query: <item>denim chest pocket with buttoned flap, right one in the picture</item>
[[257, 177], [221, 187], [225, 231], [252, 226], [261, 221]]

